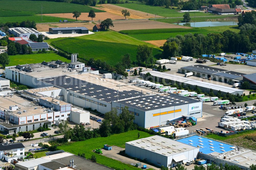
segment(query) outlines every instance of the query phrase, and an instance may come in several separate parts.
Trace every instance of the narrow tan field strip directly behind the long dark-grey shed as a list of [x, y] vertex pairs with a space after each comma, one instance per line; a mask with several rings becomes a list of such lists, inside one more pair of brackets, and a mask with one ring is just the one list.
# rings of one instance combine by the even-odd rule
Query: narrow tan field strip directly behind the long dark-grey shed
[[86, 27], [89, 30], [92, 30], [94, 26], [91, 22], [78, 22], [78, 23], [52, 23], [52, 24], [37, 24], [37, 30], [42, 32], [49, 31], [49, 28], [61, 28], [61, 27]]

